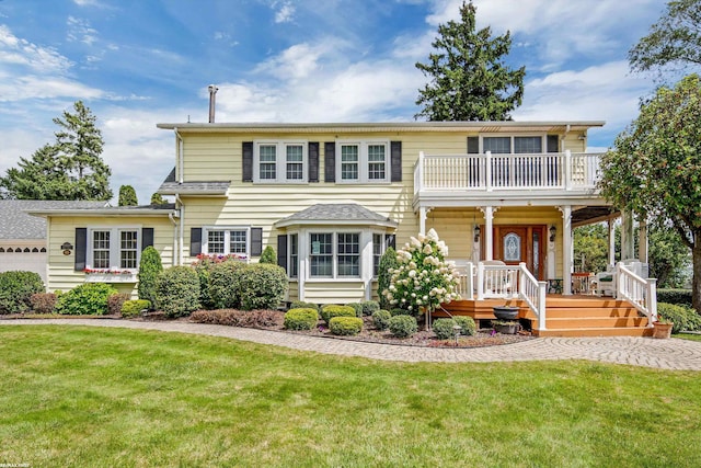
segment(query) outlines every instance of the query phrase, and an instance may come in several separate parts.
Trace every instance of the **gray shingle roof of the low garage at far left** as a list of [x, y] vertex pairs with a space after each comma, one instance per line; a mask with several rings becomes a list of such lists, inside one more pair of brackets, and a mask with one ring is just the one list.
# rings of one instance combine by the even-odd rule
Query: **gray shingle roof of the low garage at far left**
[[42, 209], [94, 209], [106, 202], [59, 202], [42, 199], [0, 199], [0, 239], [44, 239], [46, 219], [27, 212]]

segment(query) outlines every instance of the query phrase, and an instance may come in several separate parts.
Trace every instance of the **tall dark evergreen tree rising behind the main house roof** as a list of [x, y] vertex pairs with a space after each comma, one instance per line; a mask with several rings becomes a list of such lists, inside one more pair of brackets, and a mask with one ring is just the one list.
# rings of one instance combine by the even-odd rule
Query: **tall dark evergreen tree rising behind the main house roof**
[[460, 22], [438, 26], [428, 64], [416, 62], [429, 82], [420, 90], [414, 117], [429, 121], [505, 121], [524, 99], [526, 67], [513, 70], [503, 57], [510, 33], [492, 38], [490, 27], [476, 31], [476, 8], [460, 7]]

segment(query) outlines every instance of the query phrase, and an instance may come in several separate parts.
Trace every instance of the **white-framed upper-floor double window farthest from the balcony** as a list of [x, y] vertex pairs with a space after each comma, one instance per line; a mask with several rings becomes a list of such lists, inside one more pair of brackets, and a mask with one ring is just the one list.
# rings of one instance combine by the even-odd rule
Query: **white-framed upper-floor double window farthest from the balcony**
[[307, 144], [256, 141], [253, 181], [260, 183], [307, 182]]

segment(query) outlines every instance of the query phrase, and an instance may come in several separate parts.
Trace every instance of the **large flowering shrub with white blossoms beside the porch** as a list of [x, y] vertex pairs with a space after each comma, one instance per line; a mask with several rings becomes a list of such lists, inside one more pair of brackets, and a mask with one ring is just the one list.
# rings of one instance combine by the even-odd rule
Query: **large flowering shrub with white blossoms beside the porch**
[[400, 265], [391, 272], [390, 286], [382, 294], [392, 306], [413, 315], [422, 309], [433, 312], [443, 303], [460, 299], [458, 273], [445, 261], [447, 254], [448, 247], [434, 229], [412, 237], [397, 252]]

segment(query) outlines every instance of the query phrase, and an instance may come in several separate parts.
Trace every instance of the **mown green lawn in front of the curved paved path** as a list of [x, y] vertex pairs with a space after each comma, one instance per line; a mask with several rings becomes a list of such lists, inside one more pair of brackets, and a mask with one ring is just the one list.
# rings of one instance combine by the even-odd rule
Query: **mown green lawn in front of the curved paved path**
[[701, 466], [701, 373], [0, 326], [0, 464]]

